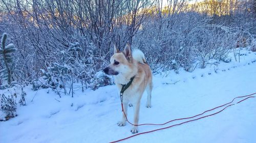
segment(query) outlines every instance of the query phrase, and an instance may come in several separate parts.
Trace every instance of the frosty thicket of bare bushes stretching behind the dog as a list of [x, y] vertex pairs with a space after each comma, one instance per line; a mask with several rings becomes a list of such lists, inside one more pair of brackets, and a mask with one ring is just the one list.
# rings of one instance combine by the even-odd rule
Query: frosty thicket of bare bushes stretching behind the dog
[[[239, 38], [250, 42], [256, 34], [252, 1], [236, 5], [230, 1], [220, 7], [186, 0], [169, 0], [165, 7], [162, 1], [97, 2], [68, 0], [45, 5], [38, 0], [31, 2], [33, 8], [5, 3], [0, 33], [9, 32], [10, 41], [17, 46], [11, 78], [33, 84], [34, 90], [59, 88], [66, 93], [66, 86], [71, 88], [74, 82], [82, 90], [97, 89], [112, 83], [96, 73], [109, 64], [114, 44], [120, 50], [127, 42], [141, 49], [154, 72], [178, 72], [180, 68], [190, 72], [204, 68], [209, 59], [229, 62], [227, 53], [231, 49], [236, 53]], [[207, 9], [201, 9], [201, 4]], [[230, 6], [232, 11], [226, 9]], [[1, 62], [0, 70], [5, 67]], [[4, 83], [0, 78], [0, 84]]]

